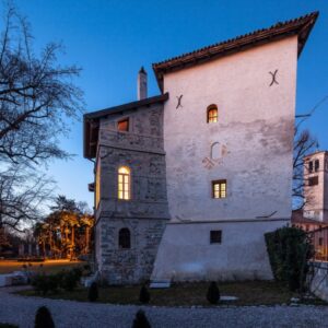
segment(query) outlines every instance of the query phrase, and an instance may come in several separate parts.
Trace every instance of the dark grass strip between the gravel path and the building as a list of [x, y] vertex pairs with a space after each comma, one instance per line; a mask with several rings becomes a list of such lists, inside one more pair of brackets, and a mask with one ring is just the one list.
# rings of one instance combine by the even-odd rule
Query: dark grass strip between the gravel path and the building
[[[150, 305], [164, 306], [210, 306], [206, 300], [209, 283], [177, 283], [169, 289], [149, 290], [151, 294]], [[97, 302], [112, 304], [140, 304], [140, 285], [134, 286], [108, 286], [99, 289]], [[291, 297], [297, 297], [296, 293], [290, 292], [283, 284], [272, 281], [246, 281], [219, 283], [221, 295], [236, 296], [238, 301], [222, 302], [231, 305], [274, 305], [290, 304]], [[20, 292], [26, 296], [37, 296], [34, 291]], [[56, 294], [48, 294], [49, 298], [74, 300], [87, 302], [87, 290], [79, 288], [73, 292], [59, 291]], [[302, 302], [303, 304], [305, 302]], [[308, 300], [307, 304], [326, 304], [318, 298]]]

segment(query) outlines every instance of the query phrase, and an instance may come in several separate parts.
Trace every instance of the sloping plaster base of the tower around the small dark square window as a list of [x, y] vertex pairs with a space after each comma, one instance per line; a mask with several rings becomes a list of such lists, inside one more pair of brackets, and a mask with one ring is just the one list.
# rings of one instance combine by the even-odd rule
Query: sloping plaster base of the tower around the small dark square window
[[[285, 224], [281, 220], [167, 224], [151, 279], [272, 279], [263, 234]], [[222, 244], [210, 244], [211, 230], [222, 231]]]

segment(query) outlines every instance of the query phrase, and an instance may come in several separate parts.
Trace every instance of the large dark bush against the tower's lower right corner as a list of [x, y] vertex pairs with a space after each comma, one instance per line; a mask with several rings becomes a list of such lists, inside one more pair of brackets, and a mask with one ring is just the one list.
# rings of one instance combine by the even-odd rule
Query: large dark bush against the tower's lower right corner
[[285, 226], [265, 234], [265, 238], [274, 279], [285, 282], [291, 291], [303, 290], [314, 254], [306, 232]]

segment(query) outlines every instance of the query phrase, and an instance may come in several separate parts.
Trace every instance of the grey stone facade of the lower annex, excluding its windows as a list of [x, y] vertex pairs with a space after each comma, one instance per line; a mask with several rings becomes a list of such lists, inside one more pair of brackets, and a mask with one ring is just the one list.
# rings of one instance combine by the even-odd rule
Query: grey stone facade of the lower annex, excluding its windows
[[[129, 118], [129, 132], [117, 124]], [[150, 278], [168, 219], [163, 106], [154, 104], [101, 119], [97, 167], [101, 201], [96, 210], [98, 269], [113, 284], [138, 283]], [[117, 172], [131, 169], [131, 199], [117, 198]], [[131, 247], [120, 249], [119, 230], [127, 227]]]

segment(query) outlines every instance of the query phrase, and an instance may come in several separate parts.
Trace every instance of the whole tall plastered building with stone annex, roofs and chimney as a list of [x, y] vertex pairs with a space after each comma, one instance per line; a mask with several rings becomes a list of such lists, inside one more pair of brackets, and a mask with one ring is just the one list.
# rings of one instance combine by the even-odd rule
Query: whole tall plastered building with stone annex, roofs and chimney
[[272, 277], [263, 234], [291, 219], [297, 58], [316, 19], [155, 63], [161, 95], [141, 70], [138, 102], [84, 116], [109, 282]]

